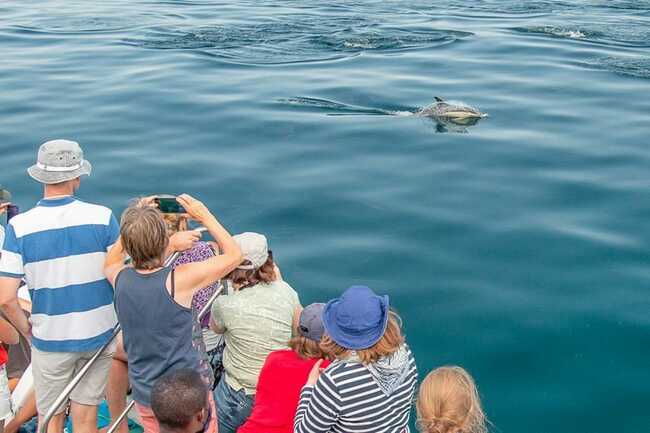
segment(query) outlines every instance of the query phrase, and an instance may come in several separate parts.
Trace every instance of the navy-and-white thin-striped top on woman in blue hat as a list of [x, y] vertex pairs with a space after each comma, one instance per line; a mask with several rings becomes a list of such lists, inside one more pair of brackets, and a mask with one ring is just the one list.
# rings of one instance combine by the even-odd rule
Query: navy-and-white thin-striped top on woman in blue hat
[[408, 375], [390, 395], [359, 362], [330, 365], [314, 387], [306, 386], [294, 433], [408, 433], [417, 369], [408, 351]]

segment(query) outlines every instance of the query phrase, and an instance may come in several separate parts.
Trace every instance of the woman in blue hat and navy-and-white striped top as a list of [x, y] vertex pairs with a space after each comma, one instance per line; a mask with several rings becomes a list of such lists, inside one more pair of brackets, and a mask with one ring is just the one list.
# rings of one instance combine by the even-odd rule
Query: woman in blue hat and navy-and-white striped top
[[327, 303], [321, 348], [337, 359], [316, 363], [302, 390], [296, 433], [408, 432], [415, 360], [388, 296], [352, 286]]

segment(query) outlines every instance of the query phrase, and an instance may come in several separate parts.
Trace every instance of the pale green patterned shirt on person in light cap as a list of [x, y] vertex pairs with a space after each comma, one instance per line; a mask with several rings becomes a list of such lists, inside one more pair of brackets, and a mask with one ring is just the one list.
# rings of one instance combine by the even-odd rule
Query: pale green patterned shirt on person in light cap
[[287, 348], [299, 305], [298, 294], [284, 281], [257, 284], [216, 299], [212, 319], [225, 329], [223, 366], [231, 388], [255, 394], [267, 355]]

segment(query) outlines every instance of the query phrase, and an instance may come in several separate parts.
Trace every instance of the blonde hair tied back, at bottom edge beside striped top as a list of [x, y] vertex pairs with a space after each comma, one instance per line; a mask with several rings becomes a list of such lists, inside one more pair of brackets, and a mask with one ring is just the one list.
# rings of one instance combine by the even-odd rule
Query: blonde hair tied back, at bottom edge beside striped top
[[472, 376], [461, 367], [440, 367], [420, 385], [416, 403], [422, 433], [486, 433], [486, 420]]

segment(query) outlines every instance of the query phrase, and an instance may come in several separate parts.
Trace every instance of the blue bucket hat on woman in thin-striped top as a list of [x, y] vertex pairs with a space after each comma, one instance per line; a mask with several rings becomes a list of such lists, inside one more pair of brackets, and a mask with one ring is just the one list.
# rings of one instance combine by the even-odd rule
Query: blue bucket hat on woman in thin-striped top
[[388, 296], [377, 296], [366, 286], [352, 286], [323, 310], [325, 332], [345, 349], [374, 346], [386, 332]]

